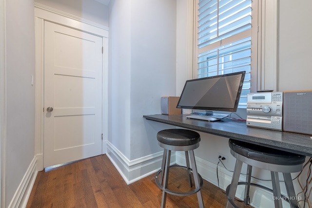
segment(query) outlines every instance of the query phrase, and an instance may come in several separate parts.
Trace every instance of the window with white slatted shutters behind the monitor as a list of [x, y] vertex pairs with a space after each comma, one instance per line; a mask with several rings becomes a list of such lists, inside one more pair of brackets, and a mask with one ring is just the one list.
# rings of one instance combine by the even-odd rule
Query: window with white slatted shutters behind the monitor
[[[197, 78], [246, 71], [239, 108], [245, 108], [251, 92], [252, 60], [257, 62], [257, 47], [252, 49], [252, 22], [257, 22], [252, 0], [197, 1]], [[255, 4], [253, 4], [255, 5]], [[253, 10], [252, 10], [253, 9]], [[253, 13], [252, 13], [253, 12]], [[253, 14], [253, 18], [252, 18]], [[255, 16], [255, 17], [254, 17]], [[257, 36], [257, 33], [255, 33]], [[253, 51], [253, 55], [252, 55]], [[254, 58], [252, 58], [254, 57]], [[254, 79], [256, 83], [256, 77]]]

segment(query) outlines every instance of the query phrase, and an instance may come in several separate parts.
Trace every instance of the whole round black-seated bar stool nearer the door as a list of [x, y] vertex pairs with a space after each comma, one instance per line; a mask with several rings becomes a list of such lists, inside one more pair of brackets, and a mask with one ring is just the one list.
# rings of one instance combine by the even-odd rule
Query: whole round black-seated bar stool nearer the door
[[[203, 208], [204, 204], [203, 204], [203, 199], [202, 199], [201, 191], [200, 191], [202, 184], [203, 184], [203, 179], [197, 172], [195, 156], [194, 156], [194, 151], [193, 151], [199, 147], [199, 141], [200, 141], [199, 133], [191, 131], [191, 130], [187, 130], [187, 129], [168, 129], [168, 130], [162, 130], [158, 132], [157, 140], [158, 140], [158, 145], [164, 148], [161, 169], [156, 172], [156, 176], [155, 176], [157, 186], [160, 189], [162, 189], [161, 207], [164, 208], [166, 206], [167, 193], [177, 195], [177, 196], [188, 196], [190, 194], [197, 193], [199, 207]], [[195, 189], [188, 191], [188, 192], [177, 192], [177, 191], [167, 189], [169, 168], [173, 167], [173, 166], [170, 166], [171, 151], [184, 151], [185, 152], [185, 159], [186, 159], [187, 167], [178, 166], [178, 165], [175, 165], [175, 166], [179, 168], [185, 168], [186, 170], [188, 170], [188, 181], [189, 181], [190, 187], [193, 186], [192, 176], [191, 176], [191, 172], [193, 171]], [[189, 154], [190, 154], [191, 165], [192, 165], [193, 170], [190, 168]], [[163, 174], [161, 174], [160, 177], [158, 177], [160, 172], [162, 172]]]

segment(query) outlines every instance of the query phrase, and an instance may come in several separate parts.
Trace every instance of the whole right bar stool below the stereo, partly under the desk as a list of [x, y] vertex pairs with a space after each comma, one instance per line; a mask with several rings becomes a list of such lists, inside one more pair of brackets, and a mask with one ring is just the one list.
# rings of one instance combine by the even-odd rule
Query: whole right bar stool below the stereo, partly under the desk
[[[306, 156], [294, 154], [287, 151], [275, 150], [260, 145], [250, 144], [242, 141], [230, 139], [229, 146], [231, 154], [236, 158], [233, 178], [231, 184], [226, 189], [227, 208], [237, 206], [234, 204], [234, 197], [237, 185], [245, 185], [244, 203], [248, 205], [250, 186], [256, 186], [273, 192], [275, 208], [282, 208], [281, 199], [289, 202], [291, 208], [298, 208], [298, 202], [294, 192], [291, 172], [299, 172], [303, 169]], [[246, 182], [238, 182], [242, 164], [247, 164]], [[252, 167], [270, 170], [272, 177], [272, 187], [269, 189], [261, 185], [250, 183]], [[283, 173], [288, 197], [281, 196], [278, 172]]]

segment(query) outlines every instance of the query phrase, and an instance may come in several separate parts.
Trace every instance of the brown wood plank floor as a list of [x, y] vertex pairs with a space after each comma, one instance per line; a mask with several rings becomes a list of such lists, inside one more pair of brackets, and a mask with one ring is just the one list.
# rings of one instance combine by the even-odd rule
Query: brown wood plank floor
[[[183, 171], [170, 170], [170, 189], [191, 189]], [[159, 208], [161, 194], [155, 174], [127, 185], [104, 154], [38, 172], [27, 208]], [[224, 191], [205, 180], [202, 196], [205, 208], [224, 208], [226, 205]], [[249, 208], [242, 202], [236, 201], [236, 204], [239, 208]], [[196, 208], [197, 196], [168, 194], [166, 207]]]

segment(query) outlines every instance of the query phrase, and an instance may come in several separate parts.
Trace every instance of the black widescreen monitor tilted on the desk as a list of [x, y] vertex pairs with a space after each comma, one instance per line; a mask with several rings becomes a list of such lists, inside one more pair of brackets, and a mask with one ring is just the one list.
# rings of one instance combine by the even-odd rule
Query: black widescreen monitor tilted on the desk
[[236, 112], [245, 73], [187, 80], [176, 108]]

